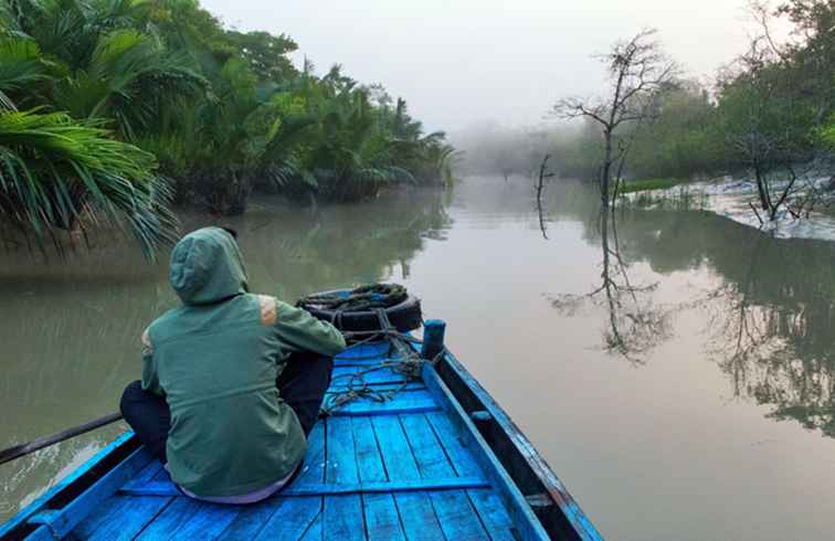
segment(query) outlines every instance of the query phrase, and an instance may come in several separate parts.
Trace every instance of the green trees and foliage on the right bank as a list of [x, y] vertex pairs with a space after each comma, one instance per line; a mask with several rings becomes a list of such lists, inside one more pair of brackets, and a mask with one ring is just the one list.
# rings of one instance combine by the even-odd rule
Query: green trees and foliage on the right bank
[[789, 19], [793, 40], [775, 44], [765, 26], [718, 77], [712, 96], [695, 83], [660, 93], [652, 121], [634, 134], [631, 176], [744, 172], [769, 199], [769, 173], [832, 152], [835, 1], [789, 0], [764, 15], [767, 24], [769, 15]]

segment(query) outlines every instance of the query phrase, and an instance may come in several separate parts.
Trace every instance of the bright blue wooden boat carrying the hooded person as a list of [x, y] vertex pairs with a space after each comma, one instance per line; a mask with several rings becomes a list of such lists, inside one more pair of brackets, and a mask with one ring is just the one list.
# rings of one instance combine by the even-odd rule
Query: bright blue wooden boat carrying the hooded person
[[321, 420], [298, 479], [267, 500], [181, 496], [128, 432], [3, 524], [0, 539], [602, 539], [451, 353], [405, 385], [385, 363], [393, 354], [378, 341], [337, 359], [335, 395], [358, 372], [378, 399], [398, 392]]

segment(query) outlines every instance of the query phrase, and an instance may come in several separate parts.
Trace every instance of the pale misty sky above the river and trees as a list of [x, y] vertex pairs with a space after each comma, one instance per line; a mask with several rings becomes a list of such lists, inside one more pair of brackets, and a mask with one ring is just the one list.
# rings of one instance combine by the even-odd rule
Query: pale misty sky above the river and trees
[[539, 123], [556, 98], [596, 93], [590, 59], [655, 26], [688, 73], [712, 77], [744, 49], [743, 0], [203, 0], [241, 30], [289, 34], [323, 73], [335, 63], [406, 98], [430, 129]]

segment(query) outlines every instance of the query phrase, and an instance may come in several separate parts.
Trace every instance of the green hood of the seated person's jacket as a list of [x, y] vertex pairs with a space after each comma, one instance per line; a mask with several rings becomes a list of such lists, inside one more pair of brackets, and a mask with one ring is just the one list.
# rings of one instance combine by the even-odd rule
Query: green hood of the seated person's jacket
[[171, 286], [186, 305], [207, 305], [249, 291], [237, 243], [220, 227], [183, 236], [171, 252]]

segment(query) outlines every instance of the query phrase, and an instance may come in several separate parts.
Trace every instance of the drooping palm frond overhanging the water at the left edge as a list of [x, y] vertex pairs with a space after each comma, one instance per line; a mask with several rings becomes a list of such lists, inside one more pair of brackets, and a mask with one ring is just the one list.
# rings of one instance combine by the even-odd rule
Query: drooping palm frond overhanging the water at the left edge
[[0, 112], [0, 216], [39, 241], [104, 220], [126, 224], [152, 257], [176, 231], [170, 190], [155, 167], [154, 156], [96, 123]]

